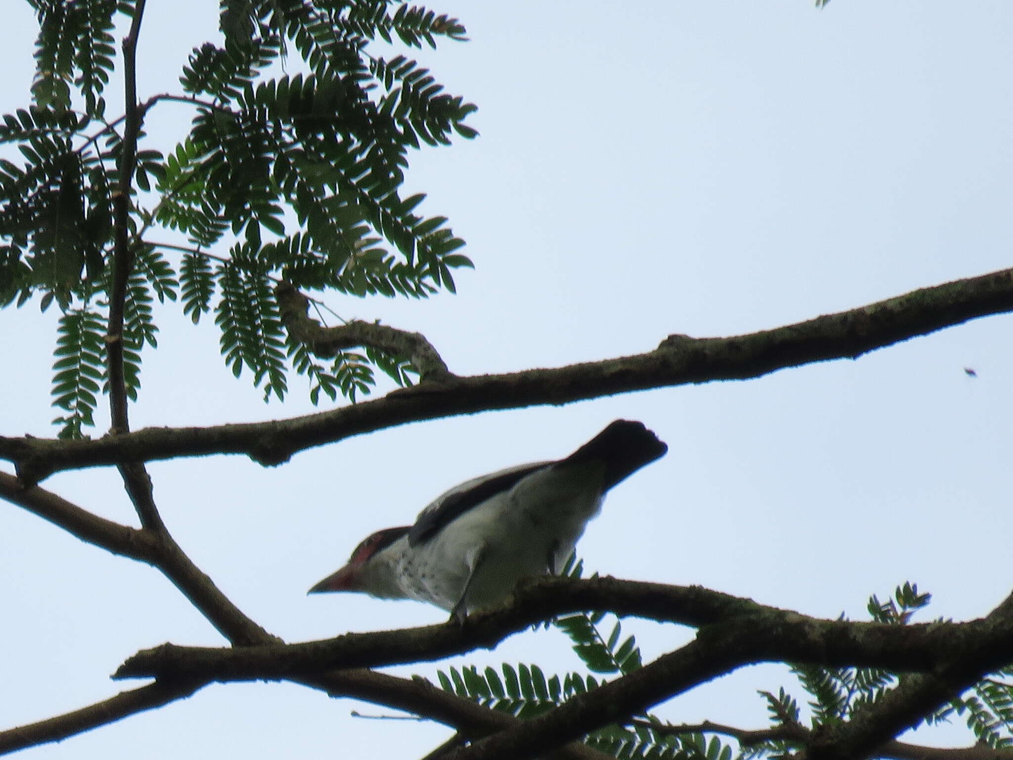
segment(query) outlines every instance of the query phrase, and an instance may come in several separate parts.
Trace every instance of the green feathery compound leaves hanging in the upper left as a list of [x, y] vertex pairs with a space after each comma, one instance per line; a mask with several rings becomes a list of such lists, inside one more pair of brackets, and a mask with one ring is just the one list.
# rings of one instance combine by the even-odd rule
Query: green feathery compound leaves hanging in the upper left
[[[123, 66], [118, 19], [136, 6], [29, 2], [40, 22], [32, 102], [0, 125], [0, 143], [20, 153], [20, 161], [0, 159], [0, 305], [58, 304], [70, 351], [73, 335], [95, 334], [92, 322], [86, 332], [74, 325], [104, 308], [111, 288], [126, 154], [124, 120], [105, 119], [102, 93]], [[227, 366], [250, 370], [265, 399], [284, 397], [291, 369], [308, 377], [314, 402], [321, 391], [352, 400], [369, 393], [377, 369], [410, 384], [405, 357], [345, 352], [324, 365], [292, 346], [272, 288], [286, 280], [356, 297], [454, 292], [453, 270], [471, 265], [464, 242], [446, 217], [417, 213], [424, 195], [402, 198], [400, 188], [411, 149], [477, 134], [465, 124], [475, 106], [405, 55], [381, 57], [370, 46], [435, 48], [464, 40], [464, 26], [389, 0], [223, 0], [220, 27], [222, 44], [193, 48], [178, 93], [140, 105], [142, 122], [165, 100], [188, 103], [193, 118], [165, 155], [146, 144], [142, 124], [129, 169], [129, 393], [139, 387], [141, 348], [155, 345], [154, 299], [179, 296], [193, 322], [214, 310]], [[71, 412], [58, 419], [64, 435], [93, 423], [97, 389], [86, 380], [101, 362], [81, 353], [80, 340], [76, 379], [61, 364], [54, 384], [55, 403]]]

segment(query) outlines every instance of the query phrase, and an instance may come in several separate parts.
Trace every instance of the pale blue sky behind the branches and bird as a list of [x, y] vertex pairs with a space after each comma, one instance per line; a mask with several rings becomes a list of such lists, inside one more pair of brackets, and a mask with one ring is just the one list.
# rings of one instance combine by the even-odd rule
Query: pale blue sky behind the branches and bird
[[[8, 5], [4, 111], [26, 102], [34, 34], [27, 5]], [[215, 6], [149, 0], [142, 96], [173, 86], [213, 33]], [[459, 374], [631, 354], [672, 332], [749, 332], [1010, 264], [1008, 2], [432, 7], [468, 26], [472, 42], [426, 60], [479, 105], [482, 135], [418, 154], [409, 185], [431, 194], [426, 213], [451, 218], [476, 271], [459, 275], [457, 296], [332, 306], [425, 333]], [[173, 128], [188, 120], [172, 113]], [[150, 132], [160, 147], [175, 134]], [[54, 435], [55, 315], [3, 318], [0, 432]], [[161, 327], [135, 427], [309, 410], [299, 381], [269, 406], [245, 376], [234, 381], [210, 323], [168, 310]], [[746, 383], [412, 425], [275, 469], [220, 457], [151, 471], [183, 547], [290, 640], [442, 619], [410, 602], [304, 594], [360, 538], [409, 522], [446, 487], [564, 455], [617, 416], [644, 421], [670, 452], [610, 496], [579, 545], [591, 569], [823, 616], [862, 617], [870, 593], [911, 580], [934, 593], [931, 616], [962, 619], [1011, 587], [1011, 339], [1001, 316]], [[131, 522], [118, 481], [92, 471], [47, 486]], [[138, 649], [221, 642], [155, 572], [16, 508], [0, 520], [0, 728], [114, 693], [108, 674]], [[648, 653], [688, 635], [629, 627]], [[503, 659], [578, 666], [553, 633], [467, 661]], [[660, 713], [760, 728], [755, 689], [781, 684], [763, 669]], [[383, 712], [293, 686], [212, 687], [21, 756], [400, 758], [447, 736], [353, 718], [353, 707]]]

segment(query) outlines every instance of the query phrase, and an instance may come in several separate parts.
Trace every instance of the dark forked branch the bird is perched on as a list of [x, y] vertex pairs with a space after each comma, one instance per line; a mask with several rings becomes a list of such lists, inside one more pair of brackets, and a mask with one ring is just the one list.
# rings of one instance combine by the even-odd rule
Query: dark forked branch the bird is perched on
[[[442, 656], [473, 648], [477, 645], [476, 640], [489, 635], [489, 630], [484, 630], [483, 626], [494, 628], [523, 608], [526, 594], [537, 597], [552, 587], [556, 592], [563, 590], [553, 610], [561, 613], [573, 609], [572, 597], [576, 590], [587, 587], [586, 594], [590, 594], [592, 589], [602, 585], [600, 581], [604, 581], [606, 588], [613, 586], [613, 592], [623, 586], [631, 591], [638, 586], [612, 579], [542, 582], [522, 590], [515, 605], [469, 619], [464, 630], [445, 624], [242, 651], [165, 644], [136, 655], [122, 666], [116, 677], [157, 675], [220, 681], [290, 678], [312, 683], [315, 679], [307, 679], [304, 669], [314, 662], [322, 669], [358, 668], [363, 664], [423, 659], [419, 656], [421, 652]], [[656, 601], [658, 587], [646, 586]], [[694, 641], [628, 676], [574, 697], [546, 715], [479, 740], [471, 747], [451, 751], [447, 757], [456, 760], [534, 757], [601, 726], [624, 721], [631, 714], [642, 712], [718, 675], [759, 662], [810, 662], [828, 666], [881, 667], [892, 671], [928, 671], [929, 675], [925, 676], [905, 676], [892, 693], [867, 710], [868, 715], [856, 715], [833, 738], [814, 737], [807, 744], [805, 760], [863, 757], [985, 673], [1013, 661], [1013, 596], [981, 620], [898, 626], [816, 620], [725, 595], [713, 595], [708, 610], [700, 603], [706, 598], [705, 590], [673, 591], [686, 595], [691, 602], [695, 600], [687, 617], [711, 620], [703, 624]], [[592, 608], [601, 607], [594, 605]], [[727, 617], [720, 620], [722, 610]], [[677, 615], [669, 610], [666, 617], [671, 619]], [[472, 640], [466, 644], [464, 639], [467, 638]], [[458, 644], [456, 649], [450, 645], [452, 642]]]

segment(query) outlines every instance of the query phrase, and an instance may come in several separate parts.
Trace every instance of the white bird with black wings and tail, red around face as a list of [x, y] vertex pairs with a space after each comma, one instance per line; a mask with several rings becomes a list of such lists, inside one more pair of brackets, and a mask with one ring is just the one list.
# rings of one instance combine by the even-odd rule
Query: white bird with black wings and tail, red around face
[[309, 593], [417, 599], [463, 620], [502, 602], [521, 578], [558, 573], [606, 491], [668, 449], [642, 423], [617, 420], [565, 459], [451, 488], [414, 525], [371, 535]]

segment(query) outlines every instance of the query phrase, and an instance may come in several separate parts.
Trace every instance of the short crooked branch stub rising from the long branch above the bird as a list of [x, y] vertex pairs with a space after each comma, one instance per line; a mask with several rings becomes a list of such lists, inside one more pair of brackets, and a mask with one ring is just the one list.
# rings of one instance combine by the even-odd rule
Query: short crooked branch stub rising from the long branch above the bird
[[275, 297], [289, 334], [305, 344], [318, 357], [331, 359], [342, 349], [369, 346], [408, 359], [418, 370], [422, 381], [449, 383], [455, 378], [437, 350], [420, 332], [360, 320], [339, 327], [322, 327], [307, 314], [309, 299], [288, 283], [281, 283], [275, 288]]

